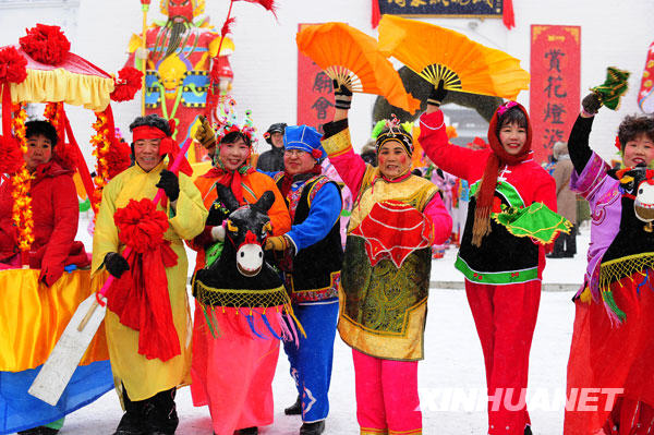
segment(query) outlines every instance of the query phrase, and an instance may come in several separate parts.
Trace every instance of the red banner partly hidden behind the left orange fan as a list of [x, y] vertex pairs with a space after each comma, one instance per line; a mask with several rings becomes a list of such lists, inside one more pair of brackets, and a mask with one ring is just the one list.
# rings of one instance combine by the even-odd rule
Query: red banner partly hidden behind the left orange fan
[[[302, 29], [300, 24], [298, 31]], [[334, 87], [331, 78], [313, 60], [298, 50], [298, 125], [315, 126], [334, 120]]]

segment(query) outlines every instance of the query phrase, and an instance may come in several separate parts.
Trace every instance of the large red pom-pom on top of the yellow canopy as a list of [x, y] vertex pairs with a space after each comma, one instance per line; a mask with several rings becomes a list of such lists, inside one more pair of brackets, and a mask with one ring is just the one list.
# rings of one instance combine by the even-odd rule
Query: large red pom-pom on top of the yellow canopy
[[27, 29], [27, 35], [19, 41], [29, 57], [48, 65], [63, 62], [71, 49], [71, 43], [61, 32], [61, 27], [45, 24], [37, 24], [36, 27]]

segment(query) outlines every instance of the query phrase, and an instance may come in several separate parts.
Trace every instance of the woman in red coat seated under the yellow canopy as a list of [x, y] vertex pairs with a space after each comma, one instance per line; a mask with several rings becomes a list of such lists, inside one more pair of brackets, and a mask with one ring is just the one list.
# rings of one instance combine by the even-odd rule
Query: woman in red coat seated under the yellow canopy
[[[25, 164], [32, 173], [29, 188], [34, 219], [34, 242], [29, 251], [29, 267], [41, 269], [39, 280], [52, 286], [63, 267], [90, 263], [82, 242], [75, 242], [80, 206], [73, 182], [73, 171], [57, 156], [57, 131], [47, 121], [25, 123], [27, 153]], [[11, 182], [0, 186], [0, 269], [20, 267], [17, 227], [12, 221]]]

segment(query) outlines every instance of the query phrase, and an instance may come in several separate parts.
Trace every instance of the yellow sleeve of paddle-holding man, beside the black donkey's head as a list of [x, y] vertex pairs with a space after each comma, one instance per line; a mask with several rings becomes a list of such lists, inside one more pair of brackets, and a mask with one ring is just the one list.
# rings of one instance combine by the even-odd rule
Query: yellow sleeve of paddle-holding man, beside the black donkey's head
[[180, 239], [191, 240], [204, 230], [209, 213], [193, 181], [184, 173], [180, 173], [179, 180], [180, 196], [177, 201], [174, 217], [168, 221]]

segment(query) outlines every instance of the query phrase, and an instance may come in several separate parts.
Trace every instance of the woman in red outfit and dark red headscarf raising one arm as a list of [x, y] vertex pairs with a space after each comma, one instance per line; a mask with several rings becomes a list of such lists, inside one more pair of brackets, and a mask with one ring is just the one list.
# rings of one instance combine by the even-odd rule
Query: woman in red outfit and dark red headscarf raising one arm
[[[522, 106], [501, 105], [488, 126], [489, 149], [475, 150], [448, 143], [438, 108], [445, 94], [443, 82], [433, 89], [427, 111], [420, 118], [420, 143], [434, 164], [471, 186], [456, 267], [464, 275], [484, 352], [488, 434], [528, 435], [532, 432], [524, 395], [545, 249], [536, 239], [514, 235], [493, 218], [501, 207], [521, 209], [533, 203], [556, 212], [556, 185], [533, 160], [531, 124]], [[534, 225], [532, 234], [541, 223]]]

